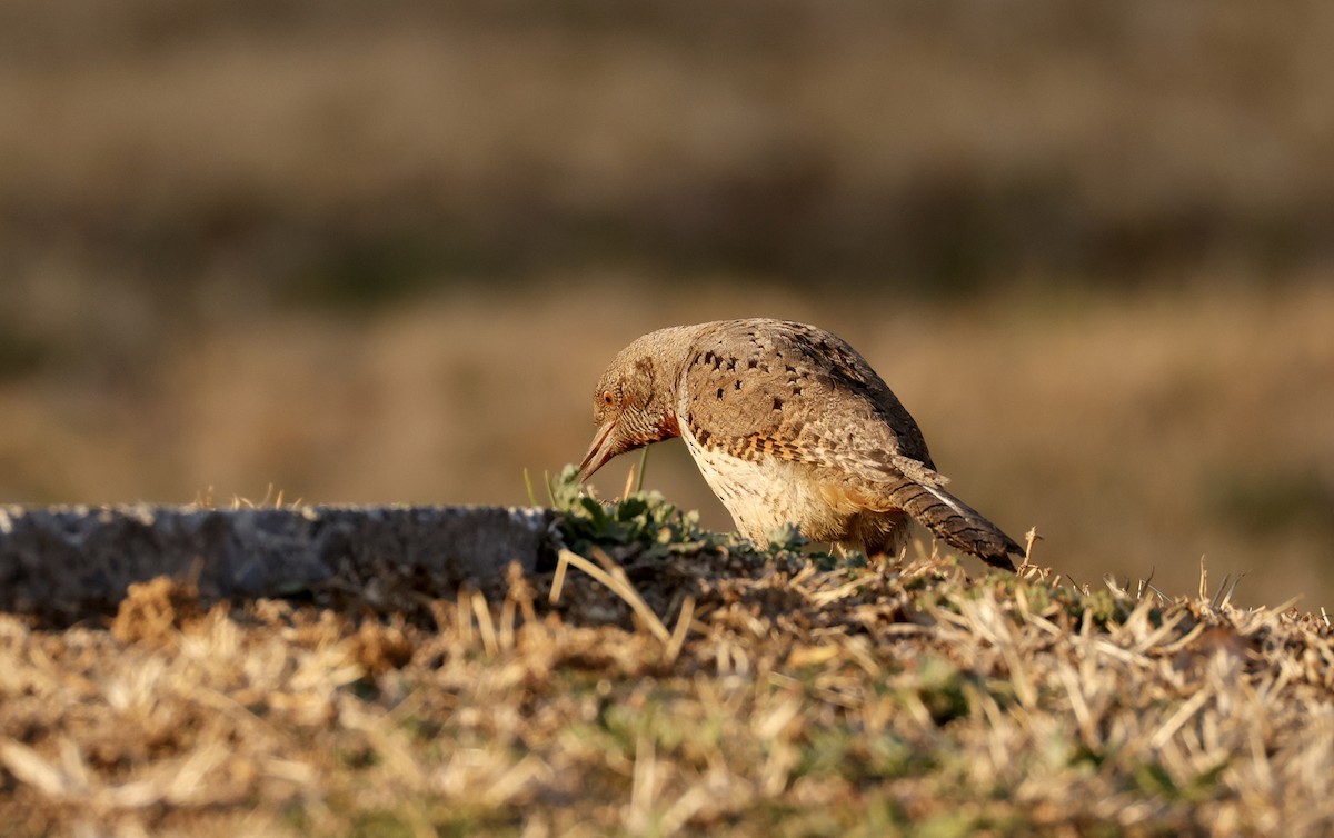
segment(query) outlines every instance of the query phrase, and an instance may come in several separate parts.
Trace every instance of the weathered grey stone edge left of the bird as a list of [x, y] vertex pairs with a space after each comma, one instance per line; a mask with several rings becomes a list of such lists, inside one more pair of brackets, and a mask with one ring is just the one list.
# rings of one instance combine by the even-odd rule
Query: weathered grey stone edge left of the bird
[[159, 575], [208, 598], [291, 594], [386, 567], [482, 584], [558, 548], [558, 515], [492, 506], [0, 506], [0, 611], [75, 615]]

